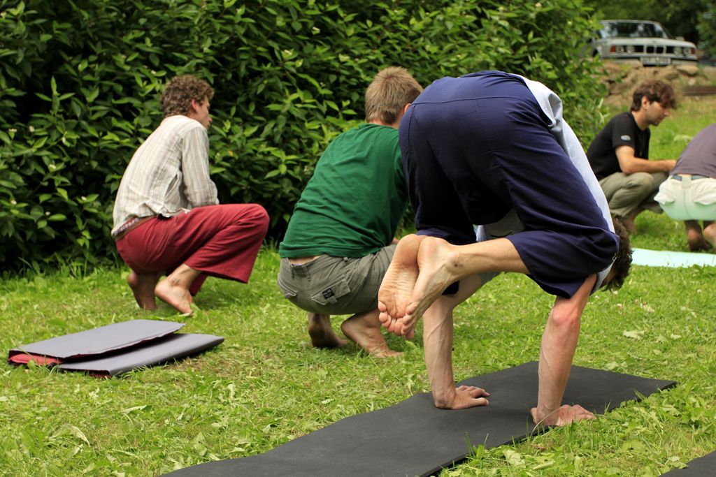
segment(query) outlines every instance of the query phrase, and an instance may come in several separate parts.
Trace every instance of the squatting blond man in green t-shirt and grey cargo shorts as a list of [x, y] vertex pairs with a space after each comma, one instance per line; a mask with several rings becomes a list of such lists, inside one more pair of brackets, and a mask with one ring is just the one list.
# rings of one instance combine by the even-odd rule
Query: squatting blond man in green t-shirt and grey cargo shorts
[[383, 69], [365, 94], [366, 123], [339, 135], [321, 155], [279, 246], [278, 284], [306, 310], [311, 343], [346, 344], [331, 315], [367, 353], [397, 355], [378, 319], [378, 288], [395, 252], [395, 232], [407, 207], [400, 160], [400, 119], [422, 87], [404, 68]]

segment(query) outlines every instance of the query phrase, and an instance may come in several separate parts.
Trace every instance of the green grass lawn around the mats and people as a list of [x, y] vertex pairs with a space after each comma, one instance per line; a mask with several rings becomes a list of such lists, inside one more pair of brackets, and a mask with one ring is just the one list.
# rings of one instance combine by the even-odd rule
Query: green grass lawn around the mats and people
[[[710, 114], [697, 122], [686, 106], [674, 113], [654, 129], [652, 155], [671, 145], [662, 134], [693, 135], [714, 120]], [[645, 212], [637, 225], [637, 246], [685, 250], [681, 226], [668, 217]], [[249, 285], [208, 280], [194, 318], [165, 305], [155, 313], [138, 310], [124, 269], [4, 280], [2, 350], [135, 318], [182, 321], [186, 333], [226, 341], [196, 358], [122, 378], [6, 366], [0, 370], [0, 474], [158, 475], [269, 451], [428, 390], [420, 339], [389, 337], [392, 348], [405, 351], [390, 360], [369, 358], [353, 345], [311, 348], [304, 313], [276, 288], [278, 262], [276, 252], [263, 250]], [[622, 290], [599, 292], [586, 308], [577, 365], [677, 380], [676, 388], [595, 421], [476, 449], [445, 476], [656, 476], [713, 451], [715, 281], [713, 267], [634, 267]], [[552, 300], [528, 278], [503, 275], [460, 306], [456, 379], [535, 360]]]

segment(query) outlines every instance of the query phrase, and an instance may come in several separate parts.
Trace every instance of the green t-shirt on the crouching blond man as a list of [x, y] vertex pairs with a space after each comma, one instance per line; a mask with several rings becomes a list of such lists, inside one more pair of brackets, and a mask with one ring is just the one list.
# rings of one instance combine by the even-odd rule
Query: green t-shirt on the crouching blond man
[[406, 207], [397, 129], [361, 124], [321, 155], [279, 255], [364, 257], [390, 245]]

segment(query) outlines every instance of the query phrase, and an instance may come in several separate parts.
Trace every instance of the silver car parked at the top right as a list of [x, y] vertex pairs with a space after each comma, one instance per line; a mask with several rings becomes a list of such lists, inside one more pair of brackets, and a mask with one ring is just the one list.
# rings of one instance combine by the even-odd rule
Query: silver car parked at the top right
[[597, 37], [591, 40], [592, 54], [604, 59], [636, 59], [647, 66], [695, 64], [696, 46], [684, 39], [672, 39], [656, 21], [603, 20]]

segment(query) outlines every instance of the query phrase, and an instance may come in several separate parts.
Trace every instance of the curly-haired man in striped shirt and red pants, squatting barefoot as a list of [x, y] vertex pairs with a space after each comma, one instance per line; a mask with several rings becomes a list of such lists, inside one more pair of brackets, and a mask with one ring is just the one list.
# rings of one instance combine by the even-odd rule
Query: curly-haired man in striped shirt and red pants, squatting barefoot
[[269, 227], [261, 205], [219, 205], [208, 162], [213, 94], [191, 75], [171, 79], [160, 101], [164, 119], [117, 190], [112, 237], [145, 310], [157, 308], [159, 297], [190, 314], [208, 276], [248, 282]]

